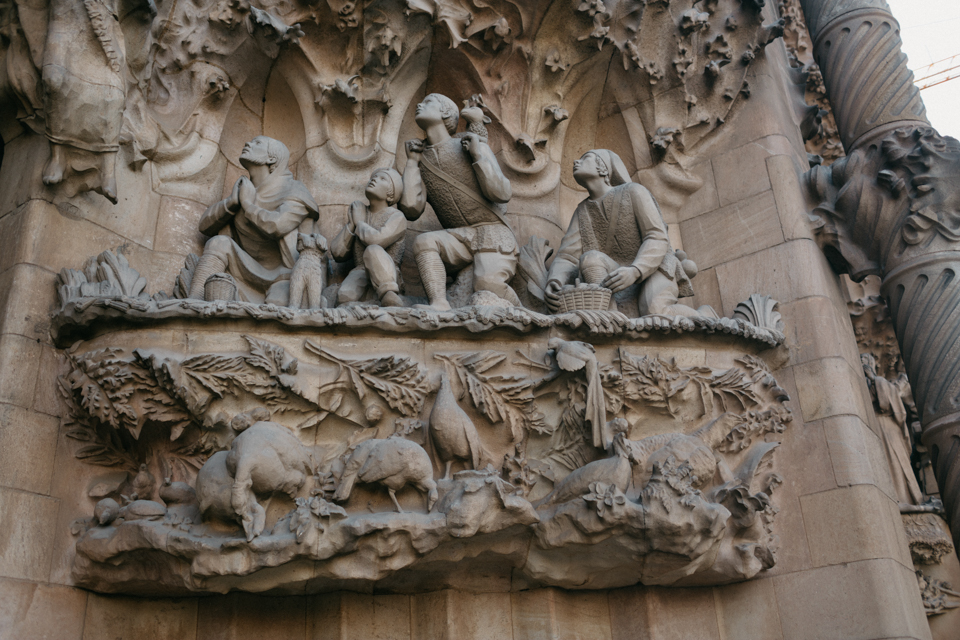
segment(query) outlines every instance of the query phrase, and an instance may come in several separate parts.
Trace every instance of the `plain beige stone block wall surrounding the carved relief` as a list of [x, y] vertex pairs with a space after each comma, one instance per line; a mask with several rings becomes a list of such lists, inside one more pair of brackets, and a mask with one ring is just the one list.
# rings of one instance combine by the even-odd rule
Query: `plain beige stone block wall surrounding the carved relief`
[[[48, 332], [56, 274], [120, 247], [151, 283], [173, 282], [184, 256], [202, 246], [203, 209], [239, 175], [239, 146], [276, 129], [255, 94], [245, 118], [231, 120], [244, 124], [219, 140], [209, 197], [158, 193], [149, 172], [118, 163], [112, 206], [42, 187], [46, 141], [2, 119], [0, 637], [930, 637], [845, 302], [807, 225], [799, 178], [807, 157], [782, 46], [761, 53], [749, 73], [750, 98], [692, 168], [704, 186], [679, 210], [664, 208], [677, 248], [700, 267], [697, 305], [729, 316], [763, 292], [780, 302], [786, 324], [785, 345], [763, 354], [795, 415], [777, 454], [778, 562], [757, 579], [713, 588], [508, 592], [491, 584], [488, 593], [142, 599], [72, 587], [70, 525], [90, 504], [76, 486], [75, 443], [60, 427], [62, 363]], [[270, 104], [269, 83], [265, 91]], [[270, 126], [284, 122], [274, 117]], [[560, 198], [563, 222], [580, 197]], [[551, 232], [554, 246], [562, 228]], [[709, 364], [710, 353], [703, 357]]]

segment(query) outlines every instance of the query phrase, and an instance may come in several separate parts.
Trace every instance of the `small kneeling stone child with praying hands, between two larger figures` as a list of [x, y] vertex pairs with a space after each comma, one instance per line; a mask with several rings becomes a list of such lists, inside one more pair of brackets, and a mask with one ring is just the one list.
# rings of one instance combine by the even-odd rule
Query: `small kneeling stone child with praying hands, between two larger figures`
[[343, 262], [353, 256], [356, 265], [340, 285], [338, 305], [360, 302], [372, 286], [381, 306], [403, 306], [399, 267], [407, 219], [394, 207], [401, 193], [400, 174], [394, 169], [377, 169], [364, 193], [369, 206], [360, 200], [350, 205], [347, 223], [330, 246], [334, 260]]

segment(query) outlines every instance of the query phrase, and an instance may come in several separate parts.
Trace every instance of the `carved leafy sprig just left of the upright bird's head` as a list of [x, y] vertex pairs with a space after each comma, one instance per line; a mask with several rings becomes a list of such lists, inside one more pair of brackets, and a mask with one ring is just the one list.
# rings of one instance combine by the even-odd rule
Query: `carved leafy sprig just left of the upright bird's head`
[[[373, 388], [390, 407], [413, 418], [423, 409], [427, 396], [426, 372], [410, 358], [387, 356], [366, 360], [339, 358], [311, 340], [307, 350], [346, 369], [357, 396], [363, 400], [368, 387]], [[339, 377], [339, 376], [338, 376]]]

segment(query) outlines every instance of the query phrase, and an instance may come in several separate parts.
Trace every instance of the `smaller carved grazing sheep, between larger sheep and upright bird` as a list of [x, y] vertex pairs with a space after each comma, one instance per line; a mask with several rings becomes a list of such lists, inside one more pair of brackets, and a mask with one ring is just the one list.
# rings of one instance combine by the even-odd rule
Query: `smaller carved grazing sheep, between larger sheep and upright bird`
[[408, 484], [427, 494], [427, 511], [437, 502], [437, 483], [433, 480], [430, 456], [423, 447], [403, 438], [366, 440], [358, 444], [344, 464], [340, 486], [333, 499], [337, 502], [348, 500], [357, 482], [385, 486], [400, 513], [403, 509], [397, 502], [397, 491]]

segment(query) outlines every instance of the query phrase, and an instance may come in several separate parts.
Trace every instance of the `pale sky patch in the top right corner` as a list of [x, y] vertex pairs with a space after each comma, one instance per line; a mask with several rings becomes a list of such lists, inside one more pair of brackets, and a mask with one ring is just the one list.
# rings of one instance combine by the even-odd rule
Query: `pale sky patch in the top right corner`
[[[960, 54], [960, 0], [887, 0], [900, 23], [903, 51], [915, 78], [927, 75], [924, 65]], [[960, 56], [950, 65], [960, 65]], [[960, 68], [947, 74], [960, 74]], [[960, 138], [960, 78], [920, 92], [927, 107], [927, 118], [937, 130]]]

